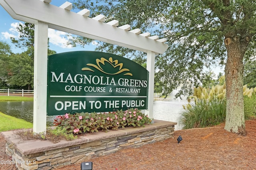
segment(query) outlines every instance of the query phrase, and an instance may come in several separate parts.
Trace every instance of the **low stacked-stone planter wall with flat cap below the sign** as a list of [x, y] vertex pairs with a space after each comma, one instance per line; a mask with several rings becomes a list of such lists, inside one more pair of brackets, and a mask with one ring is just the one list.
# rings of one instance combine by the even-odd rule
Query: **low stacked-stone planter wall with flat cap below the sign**
[[12, 156], [19, 170], [50, 170], [69, 164], [88, 162], [91, 158], [114, 153], [127, 147], [140, 147], [170, 138], [177, 123], [155, 121], [145, 127], [129, 127], [109, 132], [95, 132], [72, 141], [54, 144], [47, 140], [20, 141], [13, 132], [5, 136], [6, 154]]

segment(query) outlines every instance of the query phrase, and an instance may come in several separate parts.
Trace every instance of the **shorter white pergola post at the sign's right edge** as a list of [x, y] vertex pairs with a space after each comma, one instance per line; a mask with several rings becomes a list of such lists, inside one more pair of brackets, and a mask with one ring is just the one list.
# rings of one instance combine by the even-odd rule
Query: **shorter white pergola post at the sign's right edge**
[[147, 70], [149, 71], [148, 85], [148, 116], [153, 118], [153, 102], [154, 102], [154, 77], [155, 77], [155, 53], [147, 52]]

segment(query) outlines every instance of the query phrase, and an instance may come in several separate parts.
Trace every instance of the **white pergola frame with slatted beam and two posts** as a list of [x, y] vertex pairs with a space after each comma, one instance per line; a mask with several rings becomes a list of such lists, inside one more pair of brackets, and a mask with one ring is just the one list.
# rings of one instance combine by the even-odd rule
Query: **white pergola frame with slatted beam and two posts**
[[141, 33], [139, 28], [130, 30], [130, 25], [118, 27], [117, 20], [104, 23], [104, 15], [89, 18], [90, 11], [87, 9], [72, 12], [70, 2], [65, 2], [60, 7], [50, 2], [51, 0], [0, 0], [0, 4], [12, 18], [35, 24], [33, 131], [46, 131], [48, 28], [147, 53], [148, 115], [153, 118], [155, 55], [164, 53], [168, 48], [166, 38], [159, 40], [158, 36], [150, 36], [149, 32]]

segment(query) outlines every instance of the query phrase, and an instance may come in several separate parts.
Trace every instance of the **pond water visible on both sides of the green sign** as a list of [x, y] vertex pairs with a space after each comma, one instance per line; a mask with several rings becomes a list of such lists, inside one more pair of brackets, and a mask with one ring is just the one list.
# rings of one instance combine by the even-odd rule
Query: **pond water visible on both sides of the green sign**
[[[182, 111], [182, 105], [188, 103], [186, 100], [154, 101], [154, 119], [177, 122]], [[0, 101], [0, 111], [20, 119], [33, 123], [33, 101]], [[47, 125], [52, 126], [56, 116], [47, 116]], [[175, 126], [175, 130], [182, 127]]]

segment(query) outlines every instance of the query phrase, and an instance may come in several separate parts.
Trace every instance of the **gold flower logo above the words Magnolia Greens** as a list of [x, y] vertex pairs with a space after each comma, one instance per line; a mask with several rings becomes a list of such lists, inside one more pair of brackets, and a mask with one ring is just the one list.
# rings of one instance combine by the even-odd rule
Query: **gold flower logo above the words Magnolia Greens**
[[[90, 63], [86, 65], [92, 66], [97, 70], [101, 71], [102, 73], [109, 74], [109, 75], [116, 75], [116, 74], [123, 73], [124, 71], [130, 71], [129, 69], [123, 68], [123, 63], [118, 63], [117, 59], [113, 61], [112, 57], [110, 57], [108, 60], [101, 57], [100, 59], [96, 59], [96, 63], [97, 65], [90, 64]], [[82, 70], [94, 72], [94, 70], [88, 67], [84, 67], [82, 68]], [[132, 73], [124, 73], [124, 75], [132, 76]]]

